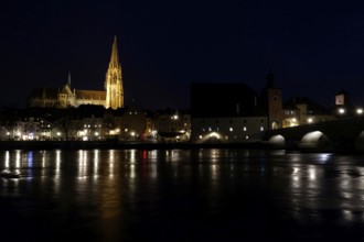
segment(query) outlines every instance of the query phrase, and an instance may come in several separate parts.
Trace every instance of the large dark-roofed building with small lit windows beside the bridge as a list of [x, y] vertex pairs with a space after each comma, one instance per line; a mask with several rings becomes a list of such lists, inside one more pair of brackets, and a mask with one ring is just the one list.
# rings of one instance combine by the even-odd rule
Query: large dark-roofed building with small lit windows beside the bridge
[[257, 142], [267, 129], [259, 97], [245, 84], [192, 84], [192, 142]]

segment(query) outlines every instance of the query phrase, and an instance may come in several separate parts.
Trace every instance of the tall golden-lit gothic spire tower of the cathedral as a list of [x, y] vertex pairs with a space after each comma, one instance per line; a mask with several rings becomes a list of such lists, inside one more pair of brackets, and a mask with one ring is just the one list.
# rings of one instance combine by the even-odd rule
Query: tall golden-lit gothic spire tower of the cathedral
[[124, 107], [124, 87], [121, 65], [119, 63], [118, 46], [114, 37], [111, 58], [106, 72], [105, 80], [106, 103], [105, 108], [118, 109]]

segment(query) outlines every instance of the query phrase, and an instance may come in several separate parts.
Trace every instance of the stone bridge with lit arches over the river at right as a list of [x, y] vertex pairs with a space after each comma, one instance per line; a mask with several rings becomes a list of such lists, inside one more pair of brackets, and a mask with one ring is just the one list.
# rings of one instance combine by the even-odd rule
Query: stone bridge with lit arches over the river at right
[[364, 152], [364, 118], [268, 130], [265, 135], [269, 145], [286, 148]]

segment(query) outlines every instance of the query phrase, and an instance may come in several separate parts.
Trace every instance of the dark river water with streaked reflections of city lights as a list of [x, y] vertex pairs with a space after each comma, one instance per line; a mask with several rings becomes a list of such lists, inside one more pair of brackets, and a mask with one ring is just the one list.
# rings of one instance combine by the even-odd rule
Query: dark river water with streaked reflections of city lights
[[364, 156], [1, 151], [1, 241], [362, 241]]

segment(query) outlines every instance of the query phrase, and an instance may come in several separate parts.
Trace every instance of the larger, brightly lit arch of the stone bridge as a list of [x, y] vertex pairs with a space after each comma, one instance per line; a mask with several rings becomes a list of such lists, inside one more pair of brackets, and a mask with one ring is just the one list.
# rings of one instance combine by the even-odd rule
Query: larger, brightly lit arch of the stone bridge
[[312, 131], [304, 134], [300, 142], [303, 148], [324, 148], [332, 146], [332, 141], [321, 131]]

